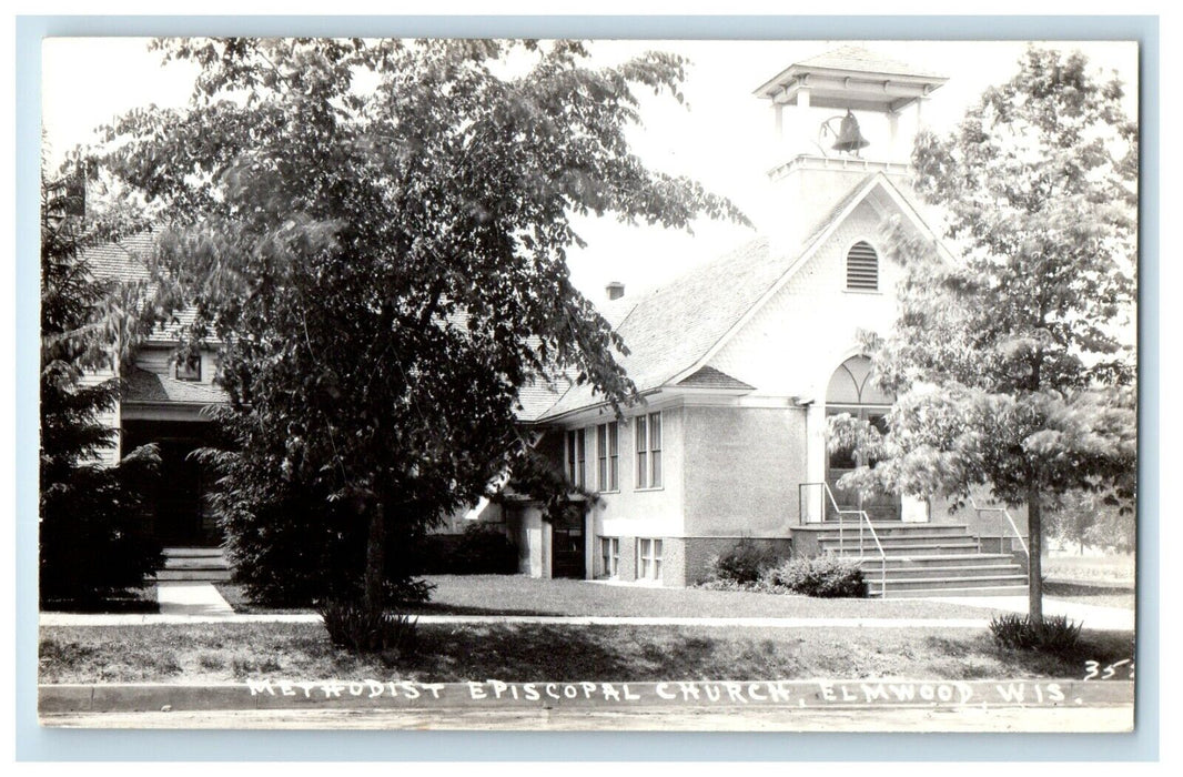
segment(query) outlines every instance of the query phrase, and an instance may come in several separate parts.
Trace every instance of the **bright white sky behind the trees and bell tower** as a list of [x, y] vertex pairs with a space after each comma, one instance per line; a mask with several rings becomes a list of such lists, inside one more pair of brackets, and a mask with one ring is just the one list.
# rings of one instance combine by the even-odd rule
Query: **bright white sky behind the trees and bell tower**
[[[690, 60], [684, 93], [675, 101], [642, 99], [644, 127], [631, 132], [638, 155], [665, 173], [689, 175], [716, 194], [731, 198], [757, 227], [770, 218], [767, 170], [778, 158], [768, 101], [752, 90], [790, 64], [846, 45], [849, 40], [594, 41], [593, 64], [615, 64], [646, 48], [672, 51]], [[1006, 82], [1026, 48], [1021, 41], [870, 41], [874, 53], [906, 61], [949, 80], [924, 105], [925, 124], [952, 129], [982, 91]], [[1126, 111], [1137, 112], [1137, 46], [1113, 41], [1056, 41], [1081, 51], [1105, 75], [1127, 86]], [[142, 38], [51, 38], [43, 45], [43, 123], [51, 158], [85, 143], [93, 128], [137, 106], [186, 104], [195, 75], [189, 63], [161, 65]], [[783, 156], [783, 154], [782, 154]], [[703, 261], [742, 245], [757, 233], [730, 222], [700, 221], [693, 234], [628, 227], [610, 216], [578, 219], [588, 242], [569, 258], [571, 278], [592, 299], [609, 281], [632, 296], [660, 285]]]

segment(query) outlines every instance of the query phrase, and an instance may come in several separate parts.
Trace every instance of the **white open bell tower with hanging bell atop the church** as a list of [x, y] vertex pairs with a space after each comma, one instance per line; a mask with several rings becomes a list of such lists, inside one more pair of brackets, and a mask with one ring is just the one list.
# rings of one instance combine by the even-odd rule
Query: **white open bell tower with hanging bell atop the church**
[[948, 80], [860, 46], [789, 65], [752, 93], [769, 101], [775, 232], [796, 240], [866, 175], [907, 186], [923, 106]]

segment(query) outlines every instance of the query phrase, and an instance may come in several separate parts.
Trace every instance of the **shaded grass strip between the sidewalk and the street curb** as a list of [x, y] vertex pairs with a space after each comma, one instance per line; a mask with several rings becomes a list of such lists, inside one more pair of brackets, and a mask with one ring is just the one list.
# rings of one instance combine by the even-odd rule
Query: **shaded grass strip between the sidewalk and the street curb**
[[1090, 633], [1062, 658], [1000, 650], [982, 630], [420, 626], [416, 656], [351, 655], [319, 626], [43, 627], [41, 682], [246, 678], [455, 682], [1082, 676], [1133, 655], [1131, 634]]

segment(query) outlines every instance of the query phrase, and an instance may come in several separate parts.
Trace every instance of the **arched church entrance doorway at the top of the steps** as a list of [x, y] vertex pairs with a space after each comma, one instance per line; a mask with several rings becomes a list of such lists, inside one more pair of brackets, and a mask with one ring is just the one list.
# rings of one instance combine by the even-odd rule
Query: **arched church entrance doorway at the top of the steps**
[[[896, 403], [896, 396], [875, 386], [871, 380], [871, 360], [866, 356], [852, 356], [842, 362], [829, 378], [826, 388], [826, 415], [848, 413], [853, 417], [871, 422], [880, 432], [886, 430], [886, 415]], [[899, 520], [900, 500], [898, 494], [875, 494], [861, 497], [855, 491], [838, 487], [838, 480], [860, 464], [854, 451], [842, 448], [830, 451], [826, 460], [826, 483], [834, 492], [834, 500], [843, 510], [865, 510], [871, 520]], [[873, 462], [872, 462], [873, 464]], [[827, 500], [828, 503], [828, 500]], [[826, 505], [826, 518], [836, 519], [834, 507]]]

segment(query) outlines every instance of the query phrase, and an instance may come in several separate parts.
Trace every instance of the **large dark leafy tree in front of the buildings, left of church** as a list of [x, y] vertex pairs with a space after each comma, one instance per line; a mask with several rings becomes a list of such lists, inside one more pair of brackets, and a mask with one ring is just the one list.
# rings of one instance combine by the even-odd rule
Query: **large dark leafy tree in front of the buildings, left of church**
[[298, 484], [351, 516], [376, 611], [392, 540], [529, 466], [519, 389], [567, 374], [632, 396], [622, 343], [568, 278], [570, 216], [738, 218], [629, 153], [638, 90], [680, 99], [684, 63], [596, 70], [570, 41], [159, 46], [200, 64], [193, 102], [116, 122], [105, 163], [167, 220], [161, 277], [195, 306], [190, 338], [225, 343], [221, 509], [258, 517]]

